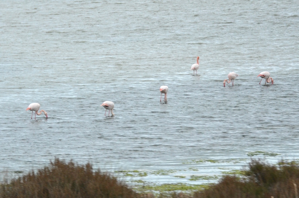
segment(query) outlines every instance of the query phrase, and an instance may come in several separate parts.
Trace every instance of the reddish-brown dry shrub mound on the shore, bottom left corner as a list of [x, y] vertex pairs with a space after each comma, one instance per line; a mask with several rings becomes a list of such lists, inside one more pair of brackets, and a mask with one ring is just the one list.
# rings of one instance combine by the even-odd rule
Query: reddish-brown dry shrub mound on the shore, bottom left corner
[[1, 197], [14, 198], [138, 198], [124, 183], [108, 173], [93, 171], [91, 164], [65, 163], [59, 159], [51, 161], [49, 167], [32, 171], [22, 178], [1, 184]]

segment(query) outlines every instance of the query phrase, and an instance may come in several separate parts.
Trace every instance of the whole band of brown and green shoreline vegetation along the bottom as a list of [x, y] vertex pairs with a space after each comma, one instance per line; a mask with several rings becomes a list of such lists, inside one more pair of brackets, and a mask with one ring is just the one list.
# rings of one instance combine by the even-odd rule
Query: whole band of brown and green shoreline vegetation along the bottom
[[[240, 174], [242, 173], [242, 174]], [[187, 184], [181, 184], [181, 187]], [[50, 165], [0, 184], [0, 198], [298, 198], [299, 164], [281, 160], [277, 165], [251, 159], [238, 174], [225, 174], [215, 184], [197, 185], [192, 192], [175, 185], [134, 189], [111, 173], [92, 165], [55, 158]], [[160, 190], [159, 190], [160, 189]], [[164, 190], [162, 190], [164, 189]]]

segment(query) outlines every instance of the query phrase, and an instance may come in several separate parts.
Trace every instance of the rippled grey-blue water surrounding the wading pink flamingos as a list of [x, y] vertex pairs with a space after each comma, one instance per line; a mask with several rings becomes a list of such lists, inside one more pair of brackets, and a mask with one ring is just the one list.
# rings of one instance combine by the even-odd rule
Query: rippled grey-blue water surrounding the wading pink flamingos
[[[191, 175], [251, 155], [299, 160], [298, 10], [295, 0], [0, 1], [0, 172], [58, 157], [198, 184]], [[259, 84], [262, 71], [273, 85]], [[31, 120], [32, 102], [49, 118]]]

